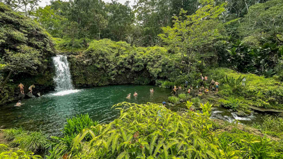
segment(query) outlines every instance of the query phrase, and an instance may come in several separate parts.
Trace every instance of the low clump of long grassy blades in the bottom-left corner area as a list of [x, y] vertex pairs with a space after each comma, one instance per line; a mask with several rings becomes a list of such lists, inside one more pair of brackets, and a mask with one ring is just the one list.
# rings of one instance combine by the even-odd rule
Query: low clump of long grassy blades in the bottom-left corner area
[[48, 144], [47, 137], [41, 132], [25, 131], [19, 129], [3, 130], [4, 137], [11, 141], [12, 147], [19, 147], [24, 151], [43, 152]]

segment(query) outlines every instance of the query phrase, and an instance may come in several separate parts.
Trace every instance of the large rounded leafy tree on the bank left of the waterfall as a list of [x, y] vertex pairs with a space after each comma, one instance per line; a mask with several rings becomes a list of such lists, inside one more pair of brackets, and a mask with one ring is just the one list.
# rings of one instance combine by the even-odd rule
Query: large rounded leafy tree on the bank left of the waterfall
[[17, 79], [28, 79], [30, 85], [42, 84], [42, 76], [50, 79], [53, 45], [39, 24], [0, 2], [0, 104], [15, 98]]

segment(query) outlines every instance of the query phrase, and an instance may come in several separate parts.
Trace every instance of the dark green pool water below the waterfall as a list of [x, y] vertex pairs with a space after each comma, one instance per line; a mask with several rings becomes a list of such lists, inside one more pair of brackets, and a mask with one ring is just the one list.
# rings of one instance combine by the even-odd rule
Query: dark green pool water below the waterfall
[[[154, 88], [154, 93], [149, 89]], [[119, 102], [161, 103], [168, 99], [170, 89], [152, 85], [111, 85], [72, 90], [74, 93], [49, 93], [38, 98], [23, 100], [20, 107], [11, 103], [0, 107], [0, 128], [24, 127], [56, 135], [66, 118], [88, 113], [93, 120], [107, 123], [117, 118], [119, 110], [111, 107]], [[137, 91], [138, 97], [134, 97]], [[131, 93], [131, 99], [126, 99]], [[63, 95], [65, 94], [65, 95]], [[54, 134], [55, 133], [55, 134]]]

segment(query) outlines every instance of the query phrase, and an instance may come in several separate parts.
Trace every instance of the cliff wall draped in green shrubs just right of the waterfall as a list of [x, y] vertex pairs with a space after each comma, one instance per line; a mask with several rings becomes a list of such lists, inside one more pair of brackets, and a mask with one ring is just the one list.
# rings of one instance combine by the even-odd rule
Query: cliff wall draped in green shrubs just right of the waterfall
[[92, 41], [80, 55], [68, 58], [76, 86], [149, 84], [173, 78], [179, 70], [162, 47], [132, 47], [109, 39]]

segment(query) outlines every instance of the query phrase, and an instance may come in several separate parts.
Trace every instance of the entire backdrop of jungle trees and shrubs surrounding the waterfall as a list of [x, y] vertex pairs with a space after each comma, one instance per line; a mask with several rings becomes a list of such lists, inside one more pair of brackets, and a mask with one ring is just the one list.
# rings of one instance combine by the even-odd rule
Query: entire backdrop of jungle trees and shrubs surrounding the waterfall
[[1, 0], [0, 103], [18, 81], [52, 89], [56, 53], [77, 86], [180, 83], [214, 67], [283, 80], [282, 0], [38, 2]]

